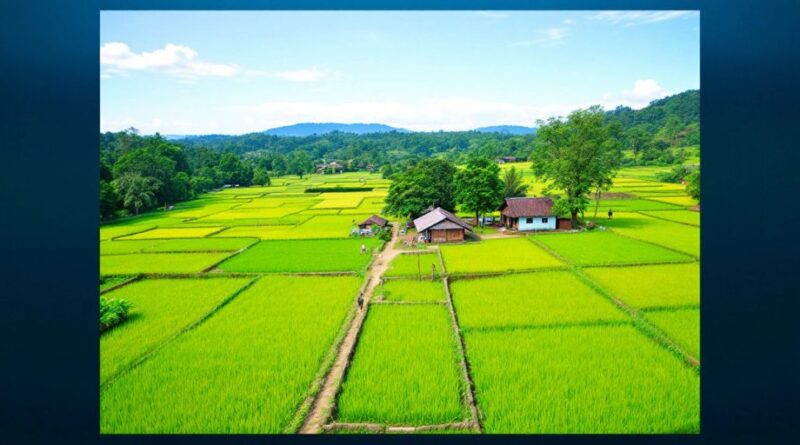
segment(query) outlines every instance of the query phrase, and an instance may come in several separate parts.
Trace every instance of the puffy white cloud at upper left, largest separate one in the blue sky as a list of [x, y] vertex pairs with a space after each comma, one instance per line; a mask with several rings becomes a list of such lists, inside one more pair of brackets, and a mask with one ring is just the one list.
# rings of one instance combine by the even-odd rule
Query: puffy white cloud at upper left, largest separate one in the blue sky
[[100, 47], [100, 65], [106, 75], [129, 71], [163, 71], [177, 77], [230, 77], [238, 72], [232, 65], [205, 62], [188, 46], [168, 43], [164, 48], [135, 53], [121, 42], [109, 42]]

